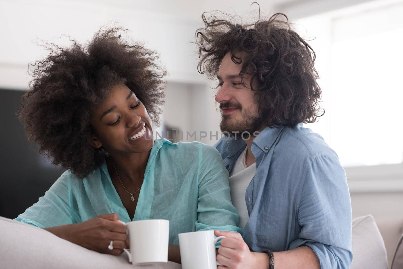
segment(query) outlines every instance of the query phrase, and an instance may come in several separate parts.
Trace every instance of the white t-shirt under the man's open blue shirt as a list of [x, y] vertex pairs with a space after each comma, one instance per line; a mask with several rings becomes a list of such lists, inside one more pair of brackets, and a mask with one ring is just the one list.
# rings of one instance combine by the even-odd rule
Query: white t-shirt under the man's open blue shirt
[[249, 219], [245, 202], [246, 188], [249, 186], [256, 173], [256, 163], [246, 167], [246, 150], [239, 155], [234, 167], [229, 174], [229, 186], [231, 188], [231, 201], [239, 213], [239, 228], [243, 229]]

